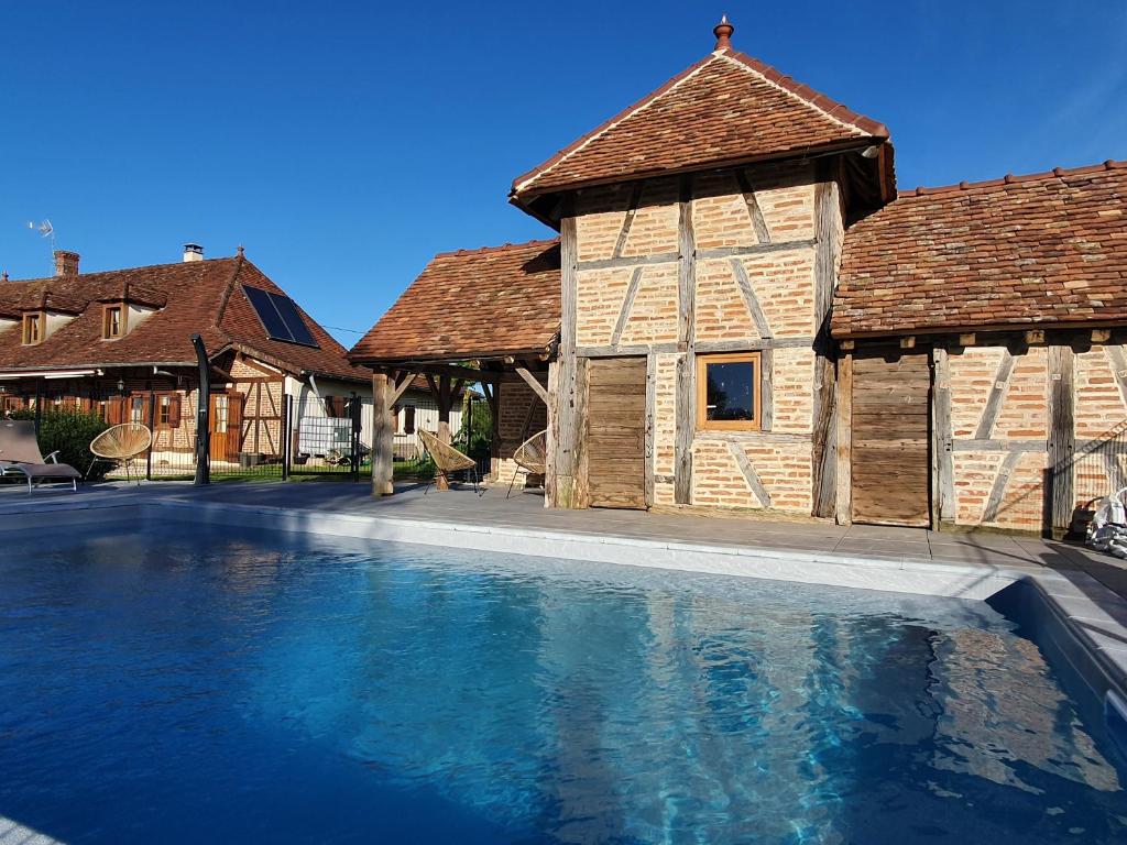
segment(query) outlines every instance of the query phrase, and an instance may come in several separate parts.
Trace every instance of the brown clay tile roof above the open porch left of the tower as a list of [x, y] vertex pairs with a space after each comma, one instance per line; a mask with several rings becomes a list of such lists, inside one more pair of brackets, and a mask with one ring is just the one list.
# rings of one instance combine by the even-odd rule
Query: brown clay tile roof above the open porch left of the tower
[[527, 354], [547, 350], [559, 326], [558, 240], [443, 252], [349, 357], [375, 363]]

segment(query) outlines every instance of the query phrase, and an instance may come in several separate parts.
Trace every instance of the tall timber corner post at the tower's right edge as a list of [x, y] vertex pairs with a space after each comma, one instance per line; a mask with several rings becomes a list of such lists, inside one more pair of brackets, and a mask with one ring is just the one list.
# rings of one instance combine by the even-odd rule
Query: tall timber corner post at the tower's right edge
[[836, 417], [838, 413], [837, 379], [829, 339], [829, 308], [837, 285], [841, 261], [842, 205], [841, 192], [828, 159], [818, 168], [814, 189], [815, 256], [814, 256], [814, 409], [811, 415], [810, 466], [814, 516], [834, 516], [837, 512], [836, 478], [838, 455]]

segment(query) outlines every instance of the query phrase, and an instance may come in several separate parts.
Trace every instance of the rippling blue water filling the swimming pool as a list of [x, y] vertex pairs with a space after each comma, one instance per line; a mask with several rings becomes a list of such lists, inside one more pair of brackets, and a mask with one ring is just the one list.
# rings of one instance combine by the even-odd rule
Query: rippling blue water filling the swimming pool
[[0, 816], [61, 839], [1127, 842], [1092, 702], [982, 603], [77, 536], [0, 549]]

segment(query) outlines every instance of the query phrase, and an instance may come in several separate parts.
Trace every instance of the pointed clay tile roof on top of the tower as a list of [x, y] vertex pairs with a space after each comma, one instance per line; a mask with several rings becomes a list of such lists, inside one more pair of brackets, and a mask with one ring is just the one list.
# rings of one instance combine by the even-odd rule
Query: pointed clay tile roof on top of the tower
[[513, 181], [513, 197], [885, 140], [880, 123], [720, 47]]

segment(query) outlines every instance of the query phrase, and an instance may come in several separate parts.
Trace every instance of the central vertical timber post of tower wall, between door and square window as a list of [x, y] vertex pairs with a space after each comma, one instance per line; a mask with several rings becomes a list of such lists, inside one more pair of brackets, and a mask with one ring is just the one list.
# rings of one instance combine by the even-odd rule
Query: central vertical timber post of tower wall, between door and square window
[[693, 435], [696, 429], [696, 239], [693, 234], [693, 181], [681, 179], [677, 212], [677, 383], [673, 441], [673, 500], [693, 498]]

